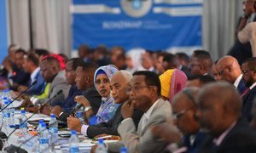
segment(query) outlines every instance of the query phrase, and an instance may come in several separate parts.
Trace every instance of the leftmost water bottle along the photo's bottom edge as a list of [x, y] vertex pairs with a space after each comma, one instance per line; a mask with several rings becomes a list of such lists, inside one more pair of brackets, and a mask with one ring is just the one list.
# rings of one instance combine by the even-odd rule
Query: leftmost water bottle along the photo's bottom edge
[[42, 136], [39, 138], [39, 152], [46, 153], [49, 152], [49, 131], [46, 128], [46, 124], [42, 124], [43, 131]]

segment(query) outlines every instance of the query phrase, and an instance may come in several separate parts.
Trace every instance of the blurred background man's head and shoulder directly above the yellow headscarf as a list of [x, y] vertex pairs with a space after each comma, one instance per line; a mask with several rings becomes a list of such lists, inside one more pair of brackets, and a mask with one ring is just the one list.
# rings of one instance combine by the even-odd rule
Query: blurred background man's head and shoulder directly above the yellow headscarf
[[178, 69], [178, 70], [183, 71], [187, 77], [191, 77], [189, 68], [184, 65], [181, 65], [179, 60], [177, 59], [177, 56], [174, 54], [166, 54], [163, 59], [162, 65], [166, 71], [169, 69]]

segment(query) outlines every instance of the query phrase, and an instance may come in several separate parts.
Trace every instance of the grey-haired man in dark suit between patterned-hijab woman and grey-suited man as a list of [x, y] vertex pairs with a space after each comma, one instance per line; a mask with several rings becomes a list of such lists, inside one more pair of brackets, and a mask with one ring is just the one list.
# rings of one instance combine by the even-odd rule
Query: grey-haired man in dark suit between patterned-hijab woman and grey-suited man
[[[110, 80], [110, 88], [113, 101], [118, 105], [113, 117], [108, 122], [101, 122], [96, 125], [83, 125], [77, 118], [69, 116], [67, 117], [68, 127], [79, 133], [83, 133], [89, 138], [95, 138], [99, 134], [119, 135], [117, 128], [119, 123], [123, 120], [121, 115], [121, 106], [129, 99], [125, 89], [127, 88], [128, 82], [131, 81], [131, 78], [132, 75], [128, 71], [117, 71], [113, 74], [113, 77]], [[143, 113], [141, 111], [134, 111], [132, 119], [134, 120], [136, 127], [142, 115]]]

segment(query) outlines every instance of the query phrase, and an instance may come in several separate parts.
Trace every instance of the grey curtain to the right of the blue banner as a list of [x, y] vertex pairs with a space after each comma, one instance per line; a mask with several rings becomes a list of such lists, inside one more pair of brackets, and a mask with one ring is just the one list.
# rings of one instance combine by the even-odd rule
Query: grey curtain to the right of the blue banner
[[203, 1], [203, 48], [213, 60], [227, 54], [234, 45], [241, 14], [242, 0]]

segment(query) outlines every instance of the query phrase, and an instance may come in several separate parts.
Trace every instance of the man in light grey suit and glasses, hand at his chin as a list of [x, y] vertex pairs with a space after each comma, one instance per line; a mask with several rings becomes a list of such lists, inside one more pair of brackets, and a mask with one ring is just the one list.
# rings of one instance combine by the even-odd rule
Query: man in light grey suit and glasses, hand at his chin
[[[137, 71], [127, 88], [130, 101], [122, 106], [124, 120], [119, 124], [118, 132], [122, 144], [108, 144], [109, 151], [119, 151], [125, 145], [128, 152], [161, 152], [166, 148], [166, 141], [155, 139], [150, 127], [162, 122], [172, 122], [172, 108], [170, 103], [160, 99], [160, 80], [151, 71]], [[133, 110], [143, 111], [143, 117], [138, 127], [135, 127], [131, 116]]]

